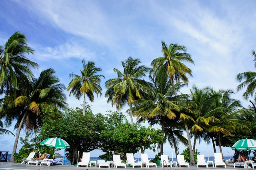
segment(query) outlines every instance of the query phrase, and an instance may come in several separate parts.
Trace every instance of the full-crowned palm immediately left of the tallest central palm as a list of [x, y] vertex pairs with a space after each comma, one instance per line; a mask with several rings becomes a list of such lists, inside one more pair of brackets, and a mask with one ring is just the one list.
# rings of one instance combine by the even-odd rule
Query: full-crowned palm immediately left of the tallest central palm
[[114, 68], [114, 72], [117, 73], [117, 78], [109, 79], [106, 81], [105, 86], [107, 88], [105, 97], [108, 97], [107, 103], [112, 103], [112, 107], [116, 105], [116, 109], [122, 109], [126, 104], [130, 106], [130, 119], [132, 119], [132, 105], [134, 100], [142, 99], [143, 94], [148, 91], [150, 83], [141, 79], [146, 76], [149, 71], [149, 67], [139, 65], [140, 59], [133, 59], [129, 57], [125, 61], [122, 61], [124, 68], [123, 73]]

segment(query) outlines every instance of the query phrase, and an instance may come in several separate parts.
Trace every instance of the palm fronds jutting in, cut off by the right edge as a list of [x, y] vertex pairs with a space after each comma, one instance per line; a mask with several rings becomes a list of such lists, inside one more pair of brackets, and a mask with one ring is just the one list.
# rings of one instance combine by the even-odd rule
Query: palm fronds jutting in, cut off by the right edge
[[[252, 50], [252, 56], [254, 57], [254, 68], [256, 68], [256, 53]], [[255, 71], [247, 71], [243, 73], [239, 73], [236, 76], [236, 79], [241, 83], [237, 87], [237, 91], [242, 90], [246, 87], [246, 91], [243, 93], [244, 99], [248, 99], [249, 97], [253, 97], [256, 93], [256, 72]]]

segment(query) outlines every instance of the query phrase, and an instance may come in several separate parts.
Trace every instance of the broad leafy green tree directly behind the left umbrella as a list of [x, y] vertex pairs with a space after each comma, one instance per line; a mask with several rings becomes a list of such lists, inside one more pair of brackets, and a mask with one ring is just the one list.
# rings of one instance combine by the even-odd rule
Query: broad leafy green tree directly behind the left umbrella
[[66, 154], [72, 164], [77, 163], [78, 151], [81, 155], [82, 152], [90, 152], [102, 145], [100, 134], [106, 125], [103, 116], [98, 114], [95, 117], [89, 105], [86, 105], [85, 116], [80, 108], [68, 108], [63, 113], [49, 113], [48, 110], [44, 110], [44, 114], [40, 140], [49, 137], [66, 140], [70, 144]]

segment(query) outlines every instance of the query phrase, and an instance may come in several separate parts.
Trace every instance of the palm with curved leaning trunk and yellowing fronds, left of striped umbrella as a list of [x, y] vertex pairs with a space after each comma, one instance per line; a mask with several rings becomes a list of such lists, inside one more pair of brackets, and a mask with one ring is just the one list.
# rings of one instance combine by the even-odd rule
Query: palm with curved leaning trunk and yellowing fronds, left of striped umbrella
[[59, 83], [59, 79], [54, 73], [55, 71], [53, 69], [46, 69], [41, 72], [38, 79], [32, 79], [30, 82], [22, 82], [24, 88], [26, 88], [29, 93], [24, 94], [21, 93], [22, 90], [20, 90], [20, 95], [11, 103], [10, 101], [12, 101], [12, 99], [10, 100], [10, 96], [5, 96], [2, 99], [0, 111], [7, 115], [6, 124], [17, 120], [14, 126], [14, 128], [17, 129], [16, 139], [10, 162], [14, 161], [13, 155], [16, 153], [20, 130], [25, 128], [28, 132], [42, 125], [42, 115], [40, 115], [40, 111], [43, 107], [55, 105], [56, 109], [66, 108], [66, 96], [63, 92], [66, 87], [62, 83]]

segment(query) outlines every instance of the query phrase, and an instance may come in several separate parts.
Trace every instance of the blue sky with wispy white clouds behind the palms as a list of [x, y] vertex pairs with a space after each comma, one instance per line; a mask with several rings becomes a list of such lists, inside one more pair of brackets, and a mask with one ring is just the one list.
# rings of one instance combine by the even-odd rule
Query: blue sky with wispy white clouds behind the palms
[[[184, 45], [194, 60], [195, 65], [186, 63], [193, 77], [182, 93], [188, 93], [192, 85], [235, 90], [236, 75], [254, 71], [255, 5], [254, 0], [3, 0], [0, 45], [14, 32], [22, 32], [35, 50], [30, 59], [40, 65], [35, 76], [52, 67], [66, 86], [70, 73], [80, 73], [83, 58], [94, 61], [106, 78], [101, 82], [102, 97], [88, 104], [95, 114], [105, 113], [115, 110], [104, 98], [105, 81], [116, 77], [113, 68], [121, 70], [121, 61], [130, 56], [150, 66], [162, 56], [161, 40]], [[243, 100], [242, 93], [234, 98]], [[246, 107], [248, 102], [243, 102]], [[82, 101], [68, 97], [68, 103], [81, 107]], [[11, 152], [13, 143], [14, 137], [2, 136], [0, 150]], [[180, 153], [184, 148], [180, 145]], [[201, 154], [208, 154], [206, 148], [213, 155], [211, 145], [197, 143]], [[234, 153], [230, 148], [223, 151], [224, 155]], [[170, 156], [172, 152], [166, 144], [164, 153]]]

